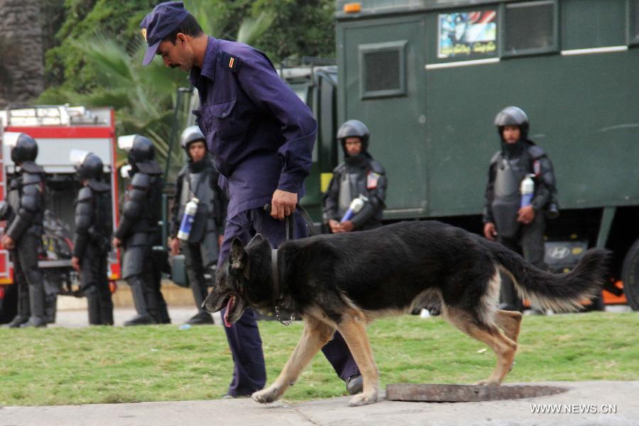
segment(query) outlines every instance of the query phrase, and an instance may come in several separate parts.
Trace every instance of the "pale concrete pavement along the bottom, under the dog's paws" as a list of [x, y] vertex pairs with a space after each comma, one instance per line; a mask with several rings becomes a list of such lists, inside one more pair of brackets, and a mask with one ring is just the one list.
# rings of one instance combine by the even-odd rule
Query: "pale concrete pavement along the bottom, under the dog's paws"
[[[524, 383], [513, 383], [524, 384]], [[250, 399], [167, 403], [4, 407], [0, 426], [172, 425], [638, 425], [639, 381], [547, 382], [557, 395], [481, 403], [404, 403], [382, 400], [348, 407], [349, 397], [260, 405]], [[299, 386], [303, 386], [300, 383]], [[546, 410], [547, 413], [532, 413]], [[555, 413], [548, 413], [555, 410]]]

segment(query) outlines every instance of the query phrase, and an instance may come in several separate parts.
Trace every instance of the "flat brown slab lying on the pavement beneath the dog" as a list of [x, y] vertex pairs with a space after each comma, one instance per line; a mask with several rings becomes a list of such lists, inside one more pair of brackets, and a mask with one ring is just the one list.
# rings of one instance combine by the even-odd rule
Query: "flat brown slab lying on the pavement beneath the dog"
[[416, 385], [398, 383], [386, 385], [386, 399], [427, 403], [462, 403], [555, 395], [568, 391], [557, 386], [475, 386]]

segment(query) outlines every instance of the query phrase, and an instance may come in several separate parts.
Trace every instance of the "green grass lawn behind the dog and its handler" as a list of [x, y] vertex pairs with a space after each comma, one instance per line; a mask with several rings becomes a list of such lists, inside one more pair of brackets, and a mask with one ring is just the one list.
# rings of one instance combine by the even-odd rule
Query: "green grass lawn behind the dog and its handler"
[[[526, 316], [507, 382], [639, 380], [639, 315]], [[260, 322], [271, 383], [293, 351], [301, 322]], [[490, 349], [437, 318], [379, 320], [368, 330], [381, 386], [472, 383], [490, 374]], [[219, 398], [231, 379], [221, 327], [176, 325], [0, 329], [0, 405], [62, 405]], [[318, 354], [286, 400], [345, 395]]]

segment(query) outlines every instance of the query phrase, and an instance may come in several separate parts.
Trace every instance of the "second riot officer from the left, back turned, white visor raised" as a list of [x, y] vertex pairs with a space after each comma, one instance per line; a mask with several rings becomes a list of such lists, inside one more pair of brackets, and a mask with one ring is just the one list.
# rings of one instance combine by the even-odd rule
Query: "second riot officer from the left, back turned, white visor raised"
[[107, 256], [113, 231], [111, 185], [102, 180], [102, 159], [94, 153], [73, 150], [79, 160], [77, 177], [82, 189], [75, 201], [75, 236], [71, 265], [80, 273], [80, 289], [87, 296], [89, 324], [113, 325], [113, 301], [107, 278]]

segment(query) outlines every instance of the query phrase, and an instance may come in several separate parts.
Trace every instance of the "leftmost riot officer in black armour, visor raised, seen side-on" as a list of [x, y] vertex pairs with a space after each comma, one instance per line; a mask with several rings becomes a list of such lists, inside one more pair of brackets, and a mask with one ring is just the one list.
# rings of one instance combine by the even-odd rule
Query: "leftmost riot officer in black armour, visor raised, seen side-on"
[[9, 205], [13, 218], [2, 244], [11, 250], [18, 284], [18, 315], [9, 327], [46, 327], [45, 289], [38, 268], [42, 247], [45, 170], [35, 164], [38, 143], [26, 133], [4, 133], [11, 148], [11, 160], [18, 171], [9, 185]]

